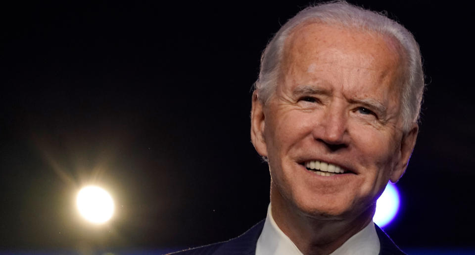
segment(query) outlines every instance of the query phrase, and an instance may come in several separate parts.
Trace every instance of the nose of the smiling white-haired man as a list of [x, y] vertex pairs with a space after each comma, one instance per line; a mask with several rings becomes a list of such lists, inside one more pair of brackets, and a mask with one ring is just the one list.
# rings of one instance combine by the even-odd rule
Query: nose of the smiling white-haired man
[[325, 109], [313, 136], [332, 151], [348, 147], [348, 116], [345, 110], [336, 106]]

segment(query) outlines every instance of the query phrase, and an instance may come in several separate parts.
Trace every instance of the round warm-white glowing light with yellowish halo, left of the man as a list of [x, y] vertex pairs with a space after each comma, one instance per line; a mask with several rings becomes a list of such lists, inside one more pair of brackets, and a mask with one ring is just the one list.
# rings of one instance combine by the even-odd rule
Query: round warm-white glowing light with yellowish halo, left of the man
[[114, 201], [104, 189], [97, 186], [82, 188], [76, 199], [79, 213], [93, 223], [104, 223], [114, 213]]

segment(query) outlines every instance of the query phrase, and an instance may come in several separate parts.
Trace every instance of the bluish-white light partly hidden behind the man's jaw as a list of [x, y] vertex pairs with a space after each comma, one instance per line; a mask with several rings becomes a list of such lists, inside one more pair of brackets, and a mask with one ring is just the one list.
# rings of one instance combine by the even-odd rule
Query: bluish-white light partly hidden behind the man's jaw
[[378, 226], [383, 227], [394, 219], [398, 209], [399, 193], [397, 192], [396, 186], [388, 182], [386, 188], [376, 202], [376, 213], [373, 217], [373, 221]]

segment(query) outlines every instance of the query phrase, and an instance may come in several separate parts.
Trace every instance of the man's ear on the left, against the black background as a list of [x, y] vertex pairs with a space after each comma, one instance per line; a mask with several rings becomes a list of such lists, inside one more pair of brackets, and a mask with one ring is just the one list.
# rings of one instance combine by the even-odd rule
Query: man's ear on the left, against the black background
[[257, 97], [257, 91], [252, 93], [251, 108], [251, 142], [257, 153], [267, 157], [267, 145], [264, 139], [265, 116], [263, 105]]

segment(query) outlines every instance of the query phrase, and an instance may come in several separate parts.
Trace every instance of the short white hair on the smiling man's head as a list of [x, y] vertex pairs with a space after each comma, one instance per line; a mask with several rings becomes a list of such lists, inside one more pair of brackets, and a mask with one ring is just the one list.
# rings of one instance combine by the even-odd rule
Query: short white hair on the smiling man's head
[[360, 31], [375, 32], [394, 38], [402, 48], [406, 68], [402, 78], [401, 110], [404, 131], [419, 120], [424, 91], [424, 72], [421, 53], [414, 36], [402, 25], [383, 14], [354, 6], [345, 1], [333, 1], [310, 6], [289, 19], [269, 41], [261, 56], [261, 67], [254, 89], [259, 100], [267, 104], [276, 91], [279, 81], [281, 60], [284, 55], [285, 39], [292, 30], [304, 23], [340, 25]]

